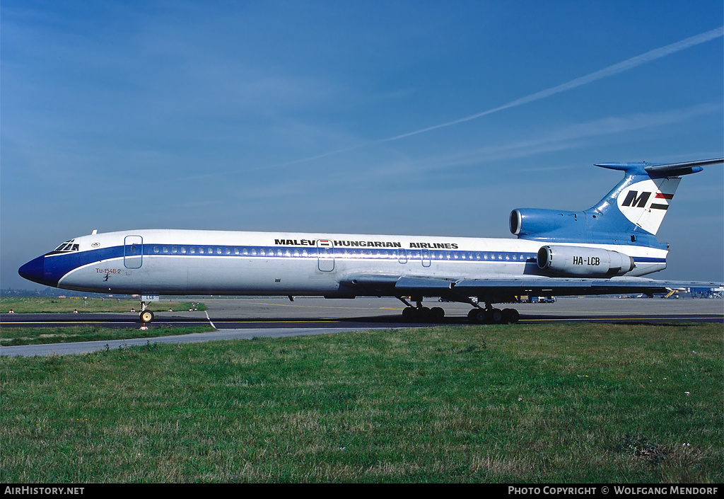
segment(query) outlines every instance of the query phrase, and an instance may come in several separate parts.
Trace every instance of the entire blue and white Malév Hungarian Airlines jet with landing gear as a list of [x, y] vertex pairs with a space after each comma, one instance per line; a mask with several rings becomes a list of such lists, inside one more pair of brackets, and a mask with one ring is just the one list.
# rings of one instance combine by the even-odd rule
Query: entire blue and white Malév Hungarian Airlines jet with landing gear
[[[669, 164], [609, 162], [620, 181], [584, 211], [516, 209], [517, 239], [365, 234], [301, 234], [140, 229], [94, 230], [25, 263], [20, 276], [62, 289], [140, 294], [140, 321], [153, 321], [145, 297], [227, 294], [396, 297], [407, 321], [439, 322], [439, 297], [471, 305], [471, 323], [515, 323], [521, 294], [667, 292], [718, 283], [657, 281], [668, 244], [656, 233], [681, 177], [724, 158]], [[411, 302], [414, 302], [413, 305]]]

